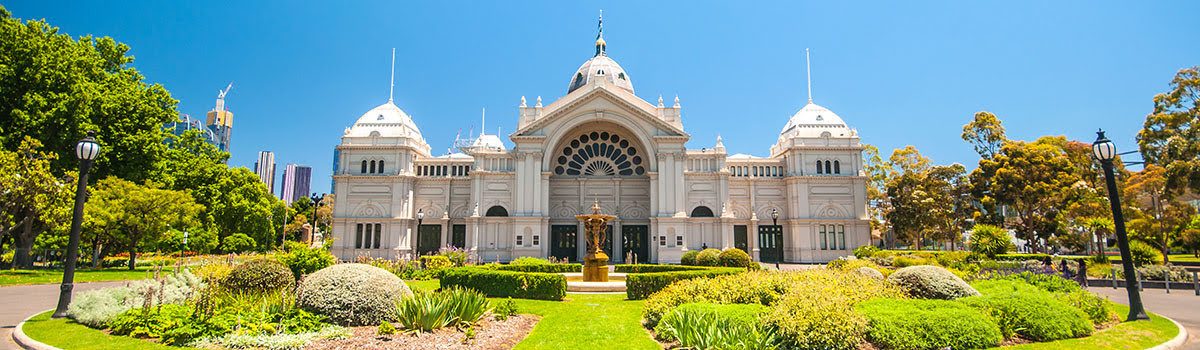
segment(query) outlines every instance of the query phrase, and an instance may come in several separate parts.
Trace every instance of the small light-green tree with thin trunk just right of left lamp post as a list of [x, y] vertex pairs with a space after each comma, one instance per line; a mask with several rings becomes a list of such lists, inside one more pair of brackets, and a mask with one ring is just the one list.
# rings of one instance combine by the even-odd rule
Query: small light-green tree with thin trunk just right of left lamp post
[[104, 231], [130, 253], [130, 270], [137, 266], [143, 245], [156, 242], [172, 228], [199, 227], [196, 219], [204, 206], [191, 194], [163, 189], [162, 185], [137, 185], [110, 176], [96, 183], [86, 206], [89, 215], [108, 225]]

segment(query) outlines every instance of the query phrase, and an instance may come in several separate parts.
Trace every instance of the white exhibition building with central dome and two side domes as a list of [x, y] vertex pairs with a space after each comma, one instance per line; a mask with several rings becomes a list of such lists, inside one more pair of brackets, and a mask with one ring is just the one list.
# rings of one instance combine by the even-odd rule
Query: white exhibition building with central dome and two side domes
[[391, 101], [371, 109], [337, 146], [332, 252], [409, 258], [446, 246], [484, 261], [554, 257], [581, 261], [575, 219], [594, 201], [618, 218], [613, 262], [678, 264], [688, 251], [738, 248], [754, 260], [824, 262], [870, 243], [863, 145], [811, 101], [784, 125], [769, 156], [689, 150], [678, 98], [634, 95], [632, 78], [596, 52], [566, 95], [517, 111], [514, 144], [482, 134], [432, 156]]

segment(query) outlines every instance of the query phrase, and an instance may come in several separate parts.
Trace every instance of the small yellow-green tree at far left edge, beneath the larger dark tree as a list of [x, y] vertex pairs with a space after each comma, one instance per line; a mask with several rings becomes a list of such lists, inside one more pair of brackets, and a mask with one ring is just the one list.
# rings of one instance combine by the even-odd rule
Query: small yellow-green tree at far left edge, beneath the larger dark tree
[[13, 266], [30, 268], [37, 237], [70, 223], [76, 174], [55, 176], [58, 155], [41, 150], [42, 143], [25, 137], [16, 152], [0, 150], [0, 242], [12, 235]]

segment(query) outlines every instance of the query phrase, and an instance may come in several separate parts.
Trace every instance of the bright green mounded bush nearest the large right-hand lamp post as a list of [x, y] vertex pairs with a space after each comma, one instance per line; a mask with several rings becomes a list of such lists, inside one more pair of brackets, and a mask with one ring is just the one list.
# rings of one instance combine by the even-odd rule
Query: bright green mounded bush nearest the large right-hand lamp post
[[1051, 342], [1091, 334], [1092, 321], [1080, 309], [1052, 294], [1018, 280], [979, 280], [982, 296], [959, 301], [988, 314], [1006, 338], [1020, 334], [1036, 342]]

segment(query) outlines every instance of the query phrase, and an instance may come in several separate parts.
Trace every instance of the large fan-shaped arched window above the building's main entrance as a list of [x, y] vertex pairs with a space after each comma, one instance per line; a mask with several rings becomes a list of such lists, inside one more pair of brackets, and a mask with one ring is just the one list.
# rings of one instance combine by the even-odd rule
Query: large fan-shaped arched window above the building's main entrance
[[554, 175], [641, 176], [642, 156], [628, 138], [616, 133], [590, 132], [565, 145], [556, 159]]

